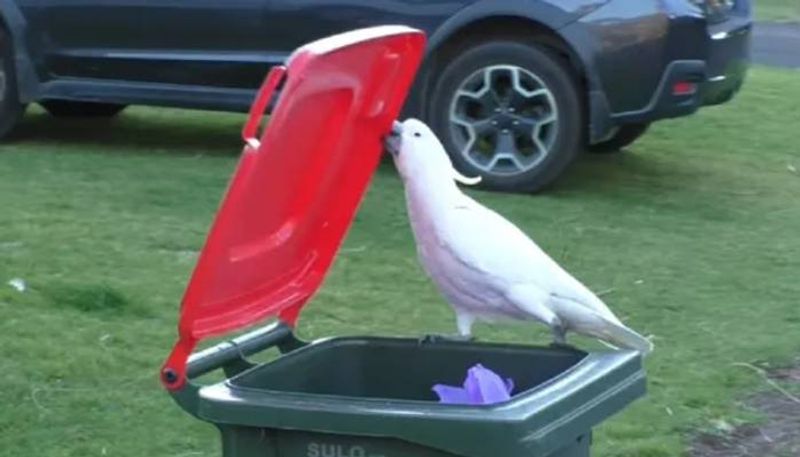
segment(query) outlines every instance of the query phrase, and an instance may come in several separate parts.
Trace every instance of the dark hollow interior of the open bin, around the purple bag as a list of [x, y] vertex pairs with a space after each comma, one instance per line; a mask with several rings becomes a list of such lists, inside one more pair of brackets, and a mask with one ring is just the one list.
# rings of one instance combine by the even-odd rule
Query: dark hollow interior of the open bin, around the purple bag
[[512, 397], [564, 373], [577, 350], [413, 339], [338, 338], [311, 344], [230, 380], [232, 387], [392, 400], [437, 401], [437, 383], [462, 385], [481, 363], [512, 378]]

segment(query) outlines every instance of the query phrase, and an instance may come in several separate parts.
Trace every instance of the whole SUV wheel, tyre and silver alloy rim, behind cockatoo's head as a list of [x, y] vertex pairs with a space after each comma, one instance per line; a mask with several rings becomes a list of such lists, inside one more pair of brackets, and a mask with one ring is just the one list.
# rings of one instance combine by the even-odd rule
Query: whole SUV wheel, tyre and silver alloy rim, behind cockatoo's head
[[566, 62], [510, 39], [473, 46], [439, 75], [428, 111], [453, 165], [490, 190], [537, 192], [583, 146], [583, 110]]

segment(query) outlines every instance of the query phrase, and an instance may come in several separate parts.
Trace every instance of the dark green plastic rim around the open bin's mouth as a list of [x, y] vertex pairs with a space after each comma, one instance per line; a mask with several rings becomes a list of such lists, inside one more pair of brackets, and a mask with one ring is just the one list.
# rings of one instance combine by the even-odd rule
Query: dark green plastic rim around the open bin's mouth
[[[315, 340], [309, 346], [346, 339], [410, 340], [330, 337]], [[563, 350], [544, 346], [509, 346], [542, 351]], [[303, 350], [305, 348], [296, 349], [282, 357], [293, 357]], [[509, 401], [494, 405], [446, 405], [419, 400], [306, 394], [236, 386], [235, 380], [246, 376], [247, 370], [201, 387], [196, 392], [195, 414], [199, 419], [218, 426], [381, 436], [466, 457], [526, 453], [549, 455], [564, 444], [563, 440], [588, 432], [646, 391], [638, 352], [576, 351], [585, 356], [569, 369], [514, 395]], [[464, 436], [464, 441], [454, 443], [453, 434]], [[473, 439], [473, 436], [480, 439]]]

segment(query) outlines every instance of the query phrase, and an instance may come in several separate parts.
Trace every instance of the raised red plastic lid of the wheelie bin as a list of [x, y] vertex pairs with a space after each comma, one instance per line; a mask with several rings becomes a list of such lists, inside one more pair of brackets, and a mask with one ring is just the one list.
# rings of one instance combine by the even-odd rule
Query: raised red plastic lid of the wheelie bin
[[361, 29], [305, 45], [267, 75], [181, 303], [179, 340], [165, 365], [179, 379], [172, 388], [182, 386], [198, 341], [273, 316], [295, 324], [380, 162], [424, 46], [415, 29]]

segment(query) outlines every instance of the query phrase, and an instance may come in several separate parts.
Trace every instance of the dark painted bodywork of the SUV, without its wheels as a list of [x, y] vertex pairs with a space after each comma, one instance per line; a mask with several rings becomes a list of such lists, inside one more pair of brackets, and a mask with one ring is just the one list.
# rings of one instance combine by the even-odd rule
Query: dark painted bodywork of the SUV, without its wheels
[[[226, 111], [246, 111], [271, 66], [323, 36], [406, 24], [428, 34], [427, 63], [465, 27], [528, 21], [578, 60], [590, 142], [621, 124], [729, 100], [749, 66], [752, 25], [749, 0], [719, 24], [688, 0], [0, 0], [0, 14], [25, 102]], [[698, 74], [697, 96], [670, 98], [668, 82]], [[423, 65], [404, 114], [424, 117], [431, 80]]]

